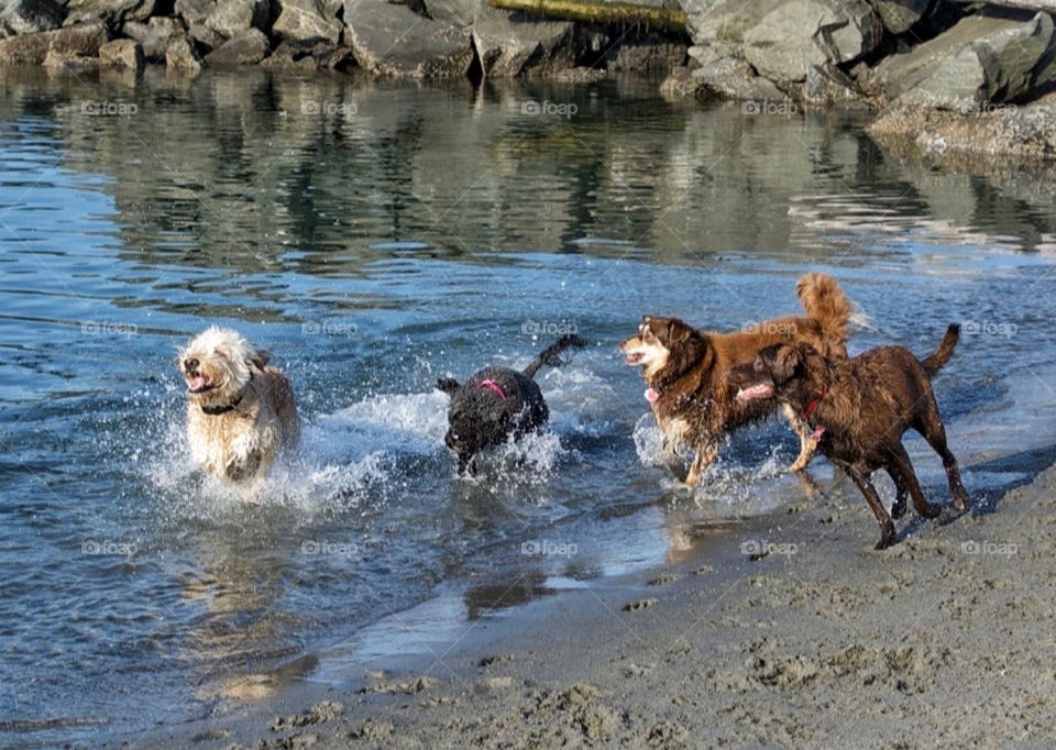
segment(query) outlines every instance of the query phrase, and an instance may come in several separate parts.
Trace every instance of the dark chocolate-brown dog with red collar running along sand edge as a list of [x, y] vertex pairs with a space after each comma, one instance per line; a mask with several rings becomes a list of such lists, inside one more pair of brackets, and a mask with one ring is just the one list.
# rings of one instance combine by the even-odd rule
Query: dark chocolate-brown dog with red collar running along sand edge
[[[847, 473], [877, 517], [877, 549], [882, 550], [895, 539], [891, 517], [904, 515], [906, 494], [922, 517], [939, 512], [924, 497], [902, 446], [902, 435], [911, 428], [943, 459], [954, 507], [968, 509], [968, 493], [946, 443], [931, 383], [953, 355], [958, 334], [959, 327], [950, 326], [938, 349], [923, 361], [902, 346], [881, 346], [834, 362], [810, 344], [778, 344], [762, 350], [755, 363], [734, 368], [729, 378], [741, 388], [740, 400], [777, 397], [815, 430], [822, 453]], [[870, 479], [878, 468], [894, 482], [890, 516]]]

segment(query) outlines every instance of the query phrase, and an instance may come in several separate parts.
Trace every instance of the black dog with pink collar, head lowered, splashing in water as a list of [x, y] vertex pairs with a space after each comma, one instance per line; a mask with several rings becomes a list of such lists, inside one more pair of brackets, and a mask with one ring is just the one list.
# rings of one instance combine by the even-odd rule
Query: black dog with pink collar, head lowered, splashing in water
[[524, 372], [485, 367], [463, 385], [450, 377], [437, 380], [437, 388], [451, 396], [443, 442], [458, 454], [460, 474], [473, 467], [473, 457], [483, 449], [505, 443], [510, 435], [520, 439], [547, 423], [550, 410], [531, 378], [543, 365], [561, 366], [559, 355], [569, 346], [585, 344], [578, 335], [564, 335]]

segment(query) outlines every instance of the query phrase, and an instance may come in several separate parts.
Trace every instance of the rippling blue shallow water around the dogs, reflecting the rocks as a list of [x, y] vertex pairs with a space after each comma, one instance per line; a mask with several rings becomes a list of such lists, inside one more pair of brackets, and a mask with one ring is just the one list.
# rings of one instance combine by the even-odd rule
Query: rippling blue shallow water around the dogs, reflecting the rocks
[[[869, 316], [854, 351], [924, 353], [966, 326], [936, 388], [980, 503], [1056, 442], [1036, 176], [903, 165], [854, 121], [670, 103], [648, 81], [9, 71], [0, 90], [3, 745], [355, 680], [314, 654], [428, 649], [801, 497], [777, 422], [695, 493], [657, 465], [615, 351], [642, 312], [736, 328], [794, 311], [796, 277], [827, 271]], [[84, 113], [100, 101], [136, 111]], [[260, 506], [184, 445], [173, 357], [209, 323], [273, 352], [306, 421]], [[594, 345], [540, 375], [552, 429], [457, 478], [436, 378], [520, 366], [560, 327]], [[870, 525], [862, 508], [864, 544]]]

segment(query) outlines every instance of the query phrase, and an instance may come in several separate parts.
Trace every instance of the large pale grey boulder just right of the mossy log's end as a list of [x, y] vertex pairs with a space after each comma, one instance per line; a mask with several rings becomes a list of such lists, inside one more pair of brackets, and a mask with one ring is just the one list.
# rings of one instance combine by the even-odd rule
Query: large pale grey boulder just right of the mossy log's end
[[685, 0], [684, 8], [695, 44], [733, 46], [778, 82], [804, 81], [812, 65], [854, 60], [883, 32], [865, 0]]

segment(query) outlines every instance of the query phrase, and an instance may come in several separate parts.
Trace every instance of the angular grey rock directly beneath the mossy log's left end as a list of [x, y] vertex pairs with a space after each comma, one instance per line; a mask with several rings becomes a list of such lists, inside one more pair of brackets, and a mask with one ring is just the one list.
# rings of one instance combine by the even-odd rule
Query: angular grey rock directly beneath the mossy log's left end
[[549, 76], [575, 65], [575, 25], [568, 21], [514, 21], [486, 9], [472, 37], [486, 77]]

